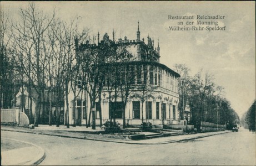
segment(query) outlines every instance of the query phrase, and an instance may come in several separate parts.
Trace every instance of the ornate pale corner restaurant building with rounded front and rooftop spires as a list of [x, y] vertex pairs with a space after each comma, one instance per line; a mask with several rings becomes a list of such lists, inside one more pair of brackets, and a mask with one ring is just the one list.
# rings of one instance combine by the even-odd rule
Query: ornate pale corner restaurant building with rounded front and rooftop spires
[[[125, 108], [126, 123], [129, 125], [140, 125], [143, 120], [143, 122], [151, 122], [152, 125], [177, 125], [179, 102], [177, 79], [180, 75], [159, 63], [159, 41], [154, 48], [154, 39], [151, 39], [149, 36], [147, 37], [147, 44], [144, 38], [140, 40], [138, 24], [136, 40], [128, 40], [127, 37], [124, 37], [124, 40], [118, 39], [118, 41], [115, 41], [113, 33], [113, 40], [109, 39], [108, 34], [105, 34], [103, 40], [99, 42], [98, 34], [98, 45], [103, 42], [108, 42], [118, 47], [125, 46], [126, 50], [133, 56], [132, 61], [120, 61], [109, 64], [111, 66], [129, 66], [126, 69], [119, 68], [118, 71], [115, 68], [109, 68], [112, 69], [113, 72], [118, 72], [118, 77], [115, 79], [118, 81], [117, 85], [119, 85], [119, 81], [122, 81], [124, 73], [127, 73], [124, 72], [124, 70], [129, 70], [134, 76], [131, 82], [133, 88], [130, 89]], [[79, 51], [83, 51], [88, 45], [88, 42], [81, 44]], [[96, 46], [96, 44], [91, 44], [91, 46]], [[73, 124], [75, 118], [73, 110], [76, 110], [77, 125], [85, 125], [86, 110], [88, 110], [87, 118], [90, 110], [88, 95], [80, 94], [75, 102], [72, 101], [72, 94], [69, 96], [69, 124]], [[109, 100], [110, 97], [111, 100]], [[102, 100], [101, 102], [99, 102], [98, 98], [96, 100], [96, 125], [99, 125], [99, 105], [101, 105], [103, 123], [107, 120], [110, 121], [111, 118], [116, 118], [116, 121], [122, 124], [122, 98], [119, 92], [117, 93], [117, 102], [114, 102], [113, 97], [114, 90], [109, 93], [106, 79], [106, 82], [103, 83], [101, 93]], [[73, 109], [73, 107], [75, 107], [75, 109]], [[115, 110], [114, 115], [113, 110]]]

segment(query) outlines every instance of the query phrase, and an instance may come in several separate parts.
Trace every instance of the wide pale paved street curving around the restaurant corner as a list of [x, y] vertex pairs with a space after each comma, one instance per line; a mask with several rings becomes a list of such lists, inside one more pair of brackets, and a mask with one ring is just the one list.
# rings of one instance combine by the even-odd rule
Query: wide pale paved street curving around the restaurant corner
[[255, 165], [255, 134], [244, 129], [238, 133], [159, 145], [98, 142], [8, 131], [1, 131], [1, 137], [41, 146], [46, 158], [40, 165]]

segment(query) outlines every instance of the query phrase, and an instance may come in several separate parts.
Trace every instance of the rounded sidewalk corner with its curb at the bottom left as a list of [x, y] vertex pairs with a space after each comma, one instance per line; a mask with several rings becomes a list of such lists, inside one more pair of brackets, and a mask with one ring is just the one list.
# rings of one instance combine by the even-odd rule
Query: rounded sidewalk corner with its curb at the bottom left
[[1, 137], [1, 165], [37, 165], [44, 157], [44, 150], [35, 144]]

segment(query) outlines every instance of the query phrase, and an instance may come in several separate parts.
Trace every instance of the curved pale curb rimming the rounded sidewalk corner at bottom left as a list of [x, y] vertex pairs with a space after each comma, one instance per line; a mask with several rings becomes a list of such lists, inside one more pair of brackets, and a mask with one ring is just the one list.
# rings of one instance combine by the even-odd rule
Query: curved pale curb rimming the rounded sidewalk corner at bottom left
[[[31, 144], [32, 146], [37, 147], [39, 149], [39, 154], [33, 160], [31, 160], [30, 162], [26, 162], [23, 165], [38, 165], [46, 157], [46, 153], [44, 152], [44, 149], [39, 147], [39, 146], [37, 146], [36, 144], [25, 142], [25, 141], [19, 141], [17, 139], [11, 139], [11, 138], [1, 138], [1, 139], [9, 139], [9, 140], [12, 140], [12, 141], [17, 141], [17, 142], [22, 142], [22, 143], [26, 143], [26, 144]], [[21, 163], [16, 163], [14, 165], [19, 165], [19, 164], [21, 164]]]

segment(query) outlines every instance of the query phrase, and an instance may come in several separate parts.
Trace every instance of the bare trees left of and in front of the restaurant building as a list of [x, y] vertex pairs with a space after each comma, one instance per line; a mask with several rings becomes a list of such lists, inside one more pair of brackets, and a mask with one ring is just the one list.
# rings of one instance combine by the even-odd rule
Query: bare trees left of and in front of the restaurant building
[[[79, 48], [85, 41], [86, 47]], [[4, 10], [1, 10], [1, 108], [12, 108], [14, 96], [21, 91], [22, 111], [25, 111], [25, 105], [29, 107], [29, 119], [35, 126], [42, 121], [48, 121], [52, 125], [53, 104], [56, 108], [55, 121], [59, 126], [61, 103], [65, 98], [66, 125], [69, 127], [69, 92], [74, 94], [73, 102], [79, 94], [88, 94], [91, 109], [88, 120], [86, 110], [86, 125], [91, 125], [93, 117], [95, 127], [95, 116], [91, 114], [94, 113], [92, 110], [96, 106], [96, 98], [99, 102], [102, 100], [102, 87], [107, 79], [109, 96], [114, 96], [109, 97], [109, 102], [116, 102], [117, 96], [121, 95], [125, 117], [125, 107], [132, 88], [130, 83], [134, 77], [129, 72], [129, 65], [121, 69], [119, 65], [107, 63], [127, 62], [132, 60], [132, 56], [128, 53], [127, 46], [115, 45], [108, 40], [107, 34], [103, 37], [103, 43], [99, 42], [98, 35], [98, 45], [89, 44], [95, 42], [94, 36], [92, 39], [88, 37], [88, 30], [78, 31], [76, 18], [66, 23], [56, 17], [55, 10], [52, 14], [44, 14], [34, 3], [29, 3], [27, 8], [19, 9], [19, 19], [9, 19]], [[121, 84], [117, 80], [119, 70], [126, 72]], [[82, 82], [79, 89], [78, 80]], [[28, 91], [27, 103], [24, 100], [24, 87]], [[34, 117], [32, 101], [36, 102]], [[76, 111], [73, 112], [76, 117]], [[102, 125], [101, 108], [99, 115]], [[112, 115], [114, 119], [114, 111]], [[76, 126], [76, 118], [73, 119], [73, 126]], [[125, 119], [123, 124], [125, 127]]]

